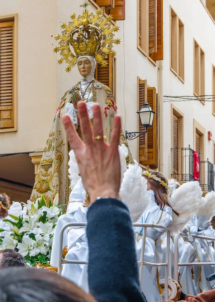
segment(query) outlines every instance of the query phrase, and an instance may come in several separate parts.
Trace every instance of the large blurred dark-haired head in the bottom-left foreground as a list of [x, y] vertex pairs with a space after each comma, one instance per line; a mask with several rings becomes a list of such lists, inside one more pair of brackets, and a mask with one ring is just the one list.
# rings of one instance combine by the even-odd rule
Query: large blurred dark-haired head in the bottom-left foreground
[[55, 272], [34, 268], [0, 270], [1, 302], [96, 302]]

